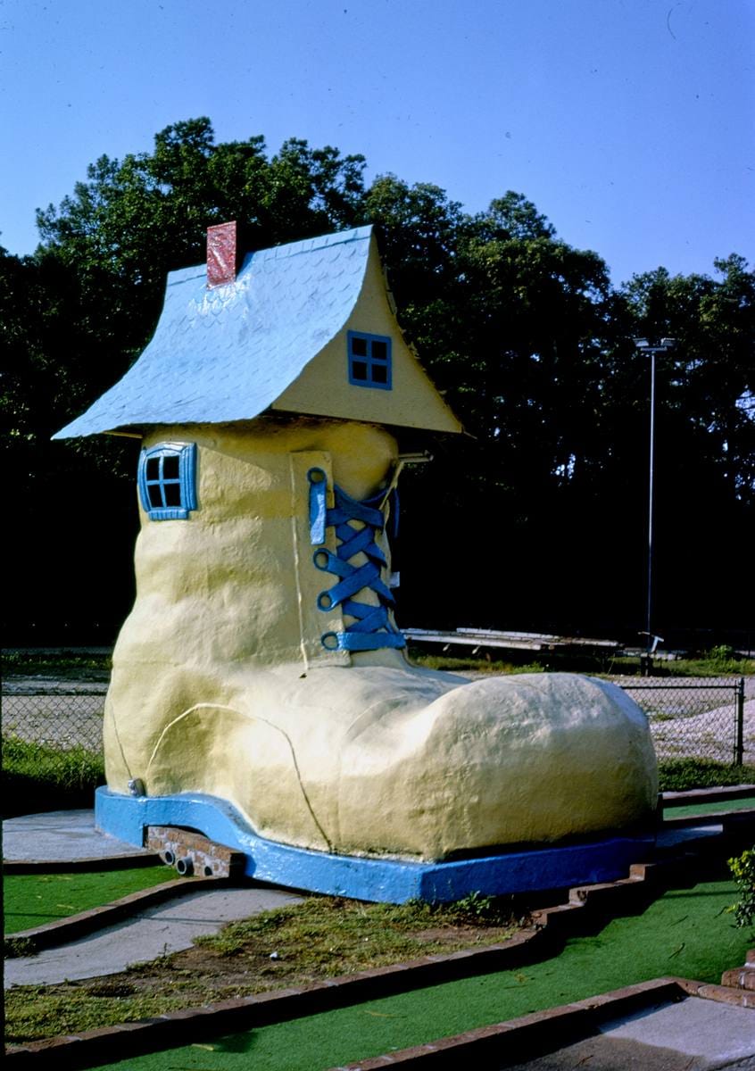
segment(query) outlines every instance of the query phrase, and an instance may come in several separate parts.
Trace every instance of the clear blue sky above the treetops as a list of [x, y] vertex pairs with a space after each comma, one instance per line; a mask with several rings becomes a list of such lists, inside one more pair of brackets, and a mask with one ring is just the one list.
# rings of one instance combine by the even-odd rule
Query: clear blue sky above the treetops
[[0, 0], [0, 243], [201, 115], [524, 193], [617, 284], [755, 257], [755, 0]]

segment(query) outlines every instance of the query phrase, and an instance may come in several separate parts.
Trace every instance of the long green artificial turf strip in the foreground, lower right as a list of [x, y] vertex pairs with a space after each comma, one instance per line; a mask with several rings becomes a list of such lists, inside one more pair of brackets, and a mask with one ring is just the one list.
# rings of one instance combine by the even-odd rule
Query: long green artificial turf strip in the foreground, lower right
[[109, 1071], [321, 1071], [514, 1019], [598, 993], [678, 975], [719, 982], [744, 962], [753, 927], [736, 927], [730, 881], [674, 890], [641, 915], [570, 940], [544, 963], [449, 982], [210, 1042], [107, 1065]]

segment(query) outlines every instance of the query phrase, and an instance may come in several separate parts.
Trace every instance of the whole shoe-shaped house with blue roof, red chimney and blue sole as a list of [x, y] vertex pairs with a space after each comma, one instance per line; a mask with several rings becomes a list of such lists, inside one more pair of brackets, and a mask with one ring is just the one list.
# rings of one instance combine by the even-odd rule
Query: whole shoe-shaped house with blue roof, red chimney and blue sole
[[[208, 247], [168, 276], [138, 361], [57, 436], [141, 439], [100, 827], [137, 844], [198, 830], [248, 875], [371, 900], [625, 873], [656, 773], [623, 692], [405, 658], [387, 539], [401, 450], [460, 426], [402, 337], [371, 228], [238, 273], [233, 225]], [[451, 549], [442, 583], [473, 583]]]

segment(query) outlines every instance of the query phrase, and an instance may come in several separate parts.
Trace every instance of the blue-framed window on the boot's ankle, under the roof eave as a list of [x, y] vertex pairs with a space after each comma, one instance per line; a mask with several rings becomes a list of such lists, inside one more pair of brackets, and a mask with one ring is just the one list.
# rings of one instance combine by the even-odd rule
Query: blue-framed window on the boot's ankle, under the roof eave
[[195, 442], [163, 442], [142, 450], [139, 497], [151, 521], [185, 521], [197, 508]]

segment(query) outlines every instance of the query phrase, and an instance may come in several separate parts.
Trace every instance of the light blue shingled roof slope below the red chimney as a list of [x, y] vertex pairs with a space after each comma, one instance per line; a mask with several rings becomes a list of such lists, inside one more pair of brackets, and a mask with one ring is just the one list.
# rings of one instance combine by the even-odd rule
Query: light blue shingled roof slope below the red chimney
[[211, 290], [205, 265], [170, 272], [141, 357], [54, 438], [257, 417], [346, 323], [371, 235], [359, 227], [253, 253], [232, 283]]

